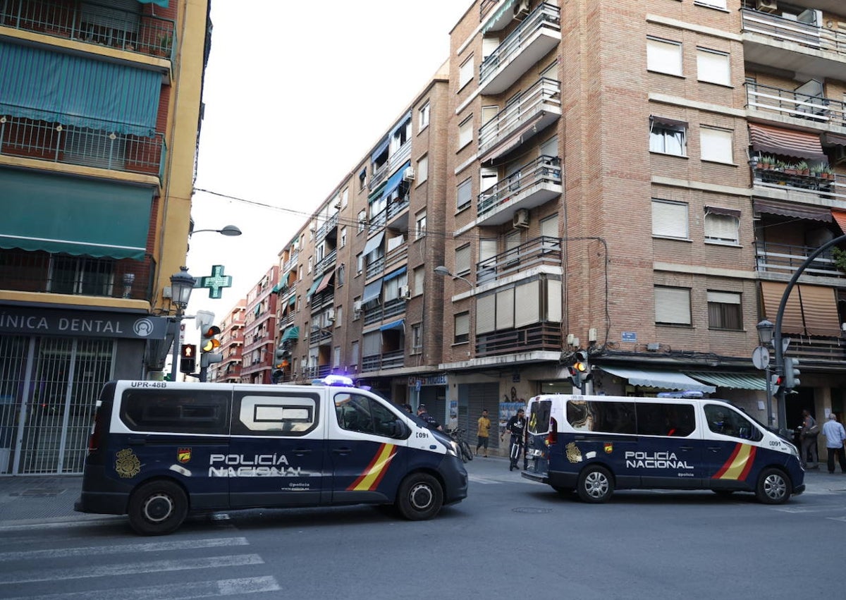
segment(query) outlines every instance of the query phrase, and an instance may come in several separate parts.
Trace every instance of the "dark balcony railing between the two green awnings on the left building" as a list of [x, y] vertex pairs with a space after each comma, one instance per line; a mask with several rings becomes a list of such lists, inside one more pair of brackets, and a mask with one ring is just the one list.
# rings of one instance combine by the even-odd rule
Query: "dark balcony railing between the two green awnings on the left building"
[[107, 168], [125, 173], [155, 175], [162, 179], [164, 135], [153, 137], [116, 134], [115, 124], [102, 129], [46, 123], [12, 117], [8, 105], [0, 105], [0, 155], [62, 162], [82, 167]]

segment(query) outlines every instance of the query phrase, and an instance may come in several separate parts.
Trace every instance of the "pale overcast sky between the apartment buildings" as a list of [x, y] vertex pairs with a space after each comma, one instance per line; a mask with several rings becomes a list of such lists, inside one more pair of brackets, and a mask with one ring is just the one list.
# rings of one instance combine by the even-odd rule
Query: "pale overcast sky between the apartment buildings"
[[470, 0], [211, 0], [195, 187], [194, 277], [224, 265], [221, 300], [195, 289], [189, 314], [219, 322], [277, 261], [306, 217], [394, 124], [449, 57]]

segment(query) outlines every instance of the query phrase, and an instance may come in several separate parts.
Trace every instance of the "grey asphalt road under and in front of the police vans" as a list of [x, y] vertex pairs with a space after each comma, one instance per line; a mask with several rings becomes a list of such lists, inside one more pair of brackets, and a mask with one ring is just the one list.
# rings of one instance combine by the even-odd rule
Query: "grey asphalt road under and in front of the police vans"
[[0, 598], [843, 597], [846, 476], [776, 507], [708, 492], [591, 505], [506, 460], [467, 466], [469, 498], [423, 522], [344, 507], [196, 517], [168, 537], [121, 518], [5, 526]]

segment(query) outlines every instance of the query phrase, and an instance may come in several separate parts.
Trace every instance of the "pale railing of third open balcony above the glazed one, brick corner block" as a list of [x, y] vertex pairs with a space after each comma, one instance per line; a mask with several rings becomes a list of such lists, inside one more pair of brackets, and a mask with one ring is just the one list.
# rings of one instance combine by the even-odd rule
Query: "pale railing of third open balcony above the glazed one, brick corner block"
[[511, 135], [522, 133], [524, 126], [532, 124], [537, 131], [541, 131], [560, 116], [561, 83], [543, 77], [481, 126], [479, 153], [484, 155], [499, 142], [508, 140]]

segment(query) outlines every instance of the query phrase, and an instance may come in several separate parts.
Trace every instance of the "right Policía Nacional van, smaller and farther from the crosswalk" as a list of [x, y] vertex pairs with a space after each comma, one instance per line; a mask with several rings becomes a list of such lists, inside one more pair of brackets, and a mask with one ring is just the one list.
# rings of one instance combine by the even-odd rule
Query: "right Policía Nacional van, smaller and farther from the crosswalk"
[[796, 447], [718, 399], [549, 394], [530, 399], [522, 476], [602, 503], [615, 489], [805, 490]]

